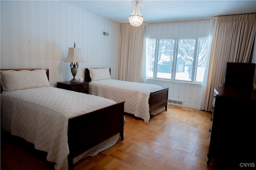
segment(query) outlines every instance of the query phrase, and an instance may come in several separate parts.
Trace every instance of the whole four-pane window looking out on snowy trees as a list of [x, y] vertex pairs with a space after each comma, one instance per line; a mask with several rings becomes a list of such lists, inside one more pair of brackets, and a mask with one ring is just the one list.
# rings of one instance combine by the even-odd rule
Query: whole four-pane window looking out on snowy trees
[[147, 39], [147, 77], [202, 84], [208, 38]]

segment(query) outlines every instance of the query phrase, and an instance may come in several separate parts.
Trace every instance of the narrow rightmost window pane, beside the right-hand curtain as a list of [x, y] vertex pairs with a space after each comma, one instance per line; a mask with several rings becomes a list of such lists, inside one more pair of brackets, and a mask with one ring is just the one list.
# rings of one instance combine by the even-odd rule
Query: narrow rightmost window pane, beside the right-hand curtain
[[208, 55], [208, 38], [200, 38], [198, 44], [198, 62], [196, 70], [196, 82], [203, 82]]

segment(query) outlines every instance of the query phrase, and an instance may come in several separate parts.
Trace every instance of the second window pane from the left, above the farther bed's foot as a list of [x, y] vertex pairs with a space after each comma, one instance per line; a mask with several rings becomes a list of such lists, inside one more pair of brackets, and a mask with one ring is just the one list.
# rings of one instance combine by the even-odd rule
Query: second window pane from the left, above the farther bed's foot
[[174, 42], [173, 39], [158, 41], [157, 78], [171, 79]]

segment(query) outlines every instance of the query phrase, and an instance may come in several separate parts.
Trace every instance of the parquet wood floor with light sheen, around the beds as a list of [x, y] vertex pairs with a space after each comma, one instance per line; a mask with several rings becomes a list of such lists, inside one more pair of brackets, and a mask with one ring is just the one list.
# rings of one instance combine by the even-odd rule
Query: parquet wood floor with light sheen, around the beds
[[[125, 115], [124, 141], [80, 160], [74, 170], [216, 170], [207, 166], [211, 113], [169, 105], [150, 123]], [[10, 136], [1, 137], [1, 170], [52, 170], [44, 152]]]

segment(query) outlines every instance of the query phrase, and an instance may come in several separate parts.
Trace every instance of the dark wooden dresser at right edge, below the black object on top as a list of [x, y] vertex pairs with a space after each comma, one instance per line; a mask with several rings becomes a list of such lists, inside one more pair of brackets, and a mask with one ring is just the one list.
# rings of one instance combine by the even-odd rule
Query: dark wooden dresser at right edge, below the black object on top
[[256, 89], [222, 85], [214, 89], [207, 164], [218, 169], [256, 167]]

